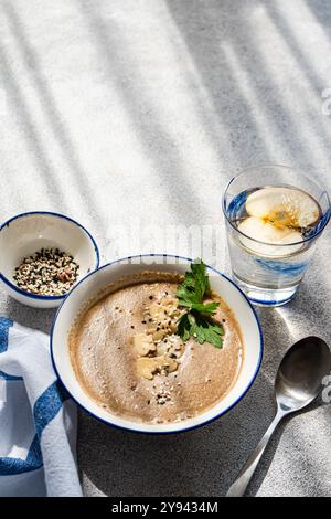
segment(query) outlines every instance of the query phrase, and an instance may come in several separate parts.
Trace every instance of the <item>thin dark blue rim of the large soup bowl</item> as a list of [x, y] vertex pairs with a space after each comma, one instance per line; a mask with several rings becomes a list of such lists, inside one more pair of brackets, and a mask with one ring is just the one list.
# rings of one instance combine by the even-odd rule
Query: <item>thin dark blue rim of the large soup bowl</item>
[[[151, 253], [151, 254], [137, 254], [137, 255], [134, 255], [134, 256], [127, 256], [127, 257], [121, 257], [120, 260], [115, 260], [114, 262], [110, 262], [110, 263], [107, 263], [105, 265], [103, 265], [102, 267], [97, 268], [96, 271], [92, 272], [90, 274], [88, 274], [86, 277], [84, 277], [84, 279], [81, 279], [79, 283], [77, 283], [77, 285], [74, 286], [74, 288], [72, 289], [72, 292], [67, 295], [67, 297], [71, 296], [71, 294], [81, 285], [81, 283], [83, 283], [85, 279], [87, 279], [89, 276], [92, 276], [93, 274], [95, 274], [96, 272], [98, 271], [102, 271], [110, 265], [116, 265], [118, 263], [121, 263], [124, 261], [127, 261], [127, 260], [135, 260], [135, 258], [142, 258], [142, 257], [173, 257], [175, 260], [184, 260], [186, 262], [190, 262], [190, 263], [193, 263], [194, 260], [190, 258], [190, 257], [184, 257], [184, 256], [178, 256], [175, 254], [154, 254], [154, 253]], [[246, 294], [244, 294], [244, 292], [229, 278], [227, 277], [225, 274], [222, 274], [220, 271], [217, 271], [216, 268], [210, 266], [210, 265], [206, 265], [207, 268], [210, 268], [211, 271], [214, 271], [216, 274], [218, 274], [221, 277], [224, 277], [227, 282], [229, 282], [241, 294], [242, 296], [244, 297], [244, 299], [246, 300], [246, 303], [248, 304], [254, 317], [255, 317], [255, 320], [256, 320], [256, 324], [257, 324], [257, 328], [258, 328], [258, 331], [259, 331], [259, 358], [258, 358], [258, 362], [257, 362], [257, 367], [256, 367], [256, 370], [255, 370], [255, 373], [249, 382], [249, 384], [247, 385], [247, 388], [245, 389], [245, 391], [241, 394], [241, 396], [237, 398], [237, 400], [232, 404], [229, 405], [225, 411], [222, 411], [222, 413], [217, 414], [216, 416], [213, 416], [212, 419], [210, 420], [206, 420], [205, 422], [202, 422], [197, 425], [192, 425], [190, 427], [184, 427], [184, 428], [181, 428], [181, 430], [177, 430], [177, 431], [137, 431], [137, 430], [134, 430], [134, 428], [130, 428], [130, 427], [124, 427], [121, 425], [117, 425], [117, 424], [114, 424], [111, 422], [108, 422], [107, 420], [104, 420], [102, 419], [100, 416], [97, 416], [96, 414], [94, 414], [92, 411], [89, 411], [88, 409], [85, 407], [85, 405], [83, 405], [81, 402], [78, 402], [78, 400], [75, 399], [75, 396], [73, 396], [73, 394], [71, 393], [71, 391], [67, 389], [67, 386], [65, 385], [65, 383], [63, 382], [58, 371], [57, 371], [57, 368], [56, 368], [56, 364], [55, 364], [55, 361], [54, 361], [54, 356], [53, 356], [53, 333], [54, 333], [54, 327], [55, 327], [55, 324], [56, 324], [56, 320], [57, 320], [57, 317], [58, 317], [58, 314], [61, 311], [61, 308], [62, 306], [64, 305], [65, 300], [60, 305], [60, 307], [57, 308], [57, 311], [55, 314], [55, 317], [53, 319], [53, 322], [52, 322], [52, 328], [51, 328], [51, 335], [50, 335], [50, 350], [51, 350], [51, 359], [52, 359], [52, 364], [53, 364], [53, 368], [54, 368], [54, 371], [56, 373], [56, 375], [58, 377], [58, 379], [61, 380], [62, 384], [64, 385], [64, 388], [66, 389], [66, 391], [68, 392], [68, 394], [71, 395], [71, 398], [74, 400], [74, 402], [76, 402], [76, 404], [78, 404], [82, 409], [84, 409], [84, 411], [86, 411], [90, 416], [93, 416], [94, 419], [96, 420], [99, 420], [100, 422], [104, 422], [105, 424], [107, 425], [110, 425], [111, 427], [115, 427], [115, 428], [118, 428], [120, 431], [127, 431], [129, 433], [137, 433], [137, 434], [150, 434], [150, 435], [156, 435], [156, 434], [159, 434], [159, 435], [166, 435], [166, 434], [180, 434], [180, 433], [184, 433], [184, 432], [188, 432], [188, 431], [194, 431], [195, 428], [200, 428], [202, 427], [203, 425], [207, 425], [212, 422], [214, 422], [215, 420], [220, 419], [221, 416], [224, 416], [225, 414], [227, 414], [233, 407], [235, 407], [237, 405], [237, 403], [248, 393], [248, 391], [250, 390], [253, 383], [255, 382], [256, 380], [256, 377], [260, 370], [260, 366], [261, 366], [261, 362], [263, 362], [263, 357], [264, 357], [264, 339], [263, 339], [263, 331], [261, 331], [261, 326], [260, 326], [260, 322], [259, 322], [259, 319], [257, 317], [257, 313], [255, 310], [255, 308], [253, 307], [253, 305], [250, 304], [249, 299], [247, 298]]]

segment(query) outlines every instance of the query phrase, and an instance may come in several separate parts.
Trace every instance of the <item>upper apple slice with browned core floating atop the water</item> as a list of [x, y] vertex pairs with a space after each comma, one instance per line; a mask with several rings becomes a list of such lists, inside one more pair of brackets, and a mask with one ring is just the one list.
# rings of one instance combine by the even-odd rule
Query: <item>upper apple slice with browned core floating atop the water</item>
[[292, 188], [263, 188], [246, 200], [249, 216], [257, 216], [278, 227], [306, 229], [320, 218], [318, 203], [305, 191]]

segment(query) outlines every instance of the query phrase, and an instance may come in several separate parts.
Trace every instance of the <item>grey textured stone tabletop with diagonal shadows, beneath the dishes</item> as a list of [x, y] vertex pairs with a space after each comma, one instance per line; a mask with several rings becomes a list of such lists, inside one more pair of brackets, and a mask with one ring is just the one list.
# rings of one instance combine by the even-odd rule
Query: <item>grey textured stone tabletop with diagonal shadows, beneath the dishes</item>
[[[103, 262], [150, 252], [152, 234], [160, 251], [188, 254], [162, 229], [213, 225], [217, 243], [204, 245], [228, 273], [220, 199], [233, 173], [286, 163], [330, 189], [329, 0], [2, 0], [0, 33], [1, 221], [66, 213]], [[86, 495], [226, 492], [273, 419], [285, 350], [307, 335], [331, 343], [330, 235], [296, 300], [259, 310], [263, 369], [226, 416], [149, 437], [79, 413]], [[53, 317], [3, 293], [0, 311], [44, 331]], [[321, 401], [284, 423], [249, 495], [331, 496], [330, 432]]]

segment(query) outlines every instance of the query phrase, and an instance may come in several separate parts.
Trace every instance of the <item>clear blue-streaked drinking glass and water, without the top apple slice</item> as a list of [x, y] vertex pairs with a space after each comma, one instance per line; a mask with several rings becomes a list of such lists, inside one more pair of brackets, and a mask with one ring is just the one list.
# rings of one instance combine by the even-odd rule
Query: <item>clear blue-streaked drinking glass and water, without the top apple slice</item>
[[[320, 205], [320, 219], [305, 233], [302, 242], [275, 246], [249, 237], [237, 229], [236, 219], [248, 194], [266, 187], [305, 191]], [[327, 191], [301, 171], [286, 166], [253, 167], [229, 181], [222, 204], [234, 280], [256, 305], [280, 306], [291, 300], [330, 220]]]

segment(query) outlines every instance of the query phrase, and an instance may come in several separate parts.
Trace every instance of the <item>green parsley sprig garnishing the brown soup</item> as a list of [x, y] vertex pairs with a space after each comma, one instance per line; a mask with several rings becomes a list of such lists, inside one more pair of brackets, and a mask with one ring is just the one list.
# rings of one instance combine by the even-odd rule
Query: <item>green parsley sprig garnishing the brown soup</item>
[[211, 342], [216, 348], [222, 348], [224, 328], [213, 320], [220, 303], [203, 303], [210, 292], [205, 265], [196, 260], [177, 290], [179, 305], [188, 308], [178, 321], [177, 332], [184, 341], [193, 336], [200, 345]]

